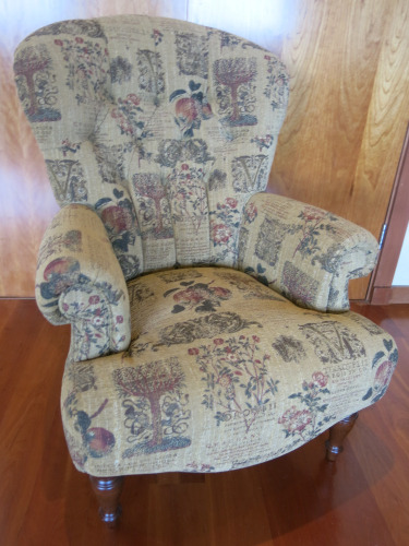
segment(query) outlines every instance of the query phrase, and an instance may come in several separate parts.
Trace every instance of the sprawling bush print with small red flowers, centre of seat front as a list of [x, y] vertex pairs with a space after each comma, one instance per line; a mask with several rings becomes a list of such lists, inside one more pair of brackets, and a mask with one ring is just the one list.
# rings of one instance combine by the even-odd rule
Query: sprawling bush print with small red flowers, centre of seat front
[[268, 373], [270, 355], [260, 348], [260, 337], [217, 337], [208, 345], [191, 347], [206, 383], [203, 405], [216, 411], [217, 426], [239, 415], [245, 431], [277, 392], [278, 381]]

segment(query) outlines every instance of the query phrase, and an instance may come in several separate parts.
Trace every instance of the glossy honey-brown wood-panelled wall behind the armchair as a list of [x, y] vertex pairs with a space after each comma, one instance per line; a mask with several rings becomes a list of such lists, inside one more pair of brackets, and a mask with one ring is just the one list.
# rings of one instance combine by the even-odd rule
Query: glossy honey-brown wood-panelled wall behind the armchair
[[[119, 13], [215, 26], [278, 54], [291, 95], [269, 190], [378, 237], [408, 123], [407, 0], [2, 0], [0, 296], [33, 296], [39, 241], [57, 211], [16, 97], [13, 51], [43, 25]], [[351, 297], [363, 298], [366, 284], [353, 282]]]

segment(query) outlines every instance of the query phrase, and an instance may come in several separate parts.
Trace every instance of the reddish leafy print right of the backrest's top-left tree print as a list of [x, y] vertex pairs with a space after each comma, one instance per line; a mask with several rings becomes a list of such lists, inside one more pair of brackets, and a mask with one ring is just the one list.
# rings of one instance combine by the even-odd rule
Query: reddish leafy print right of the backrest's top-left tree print
[[75, 93], [77, 104], [104, 99], [109, 72], [108, 49], [81, 36], [55, 39], [55, 45], [61, 48], [67, 85]]

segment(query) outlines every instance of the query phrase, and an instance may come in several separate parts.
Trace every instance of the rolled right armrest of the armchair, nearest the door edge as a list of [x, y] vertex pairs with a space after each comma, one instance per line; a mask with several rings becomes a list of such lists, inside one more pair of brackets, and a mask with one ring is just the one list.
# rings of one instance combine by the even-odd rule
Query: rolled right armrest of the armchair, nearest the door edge
[[348, 282], [368, 275], [378, 252], [366, 229], [292, 199], [257, 193], [240, 230], [240, 270], [301, 307], [349, 309]]

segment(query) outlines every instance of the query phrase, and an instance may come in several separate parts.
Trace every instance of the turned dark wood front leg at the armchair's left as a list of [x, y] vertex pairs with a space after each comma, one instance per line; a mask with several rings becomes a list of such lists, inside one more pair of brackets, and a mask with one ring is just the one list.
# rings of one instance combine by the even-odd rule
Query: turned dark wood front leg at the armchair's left
[[123, 487], [123, 476], [89, 476], [93, 490], [99, 502], [99, 517], [113, 527], [122, 513], [119, 498]]

